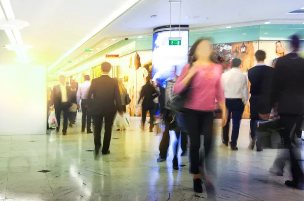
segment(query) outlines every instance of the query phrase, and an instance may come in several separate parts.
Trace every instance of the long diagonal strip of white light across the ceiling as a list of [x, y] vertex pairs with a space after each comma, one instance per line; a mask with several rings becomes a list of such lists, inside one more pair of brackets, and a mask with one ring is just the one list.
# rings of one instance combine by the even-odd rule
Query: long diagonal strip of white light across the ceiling
[[78, 49], [80, 46], [82, 46], [85, 42], [87, 42], [91, 37], [99, 33], [101, 30], [103, 30], [106, 26], [111, 24], [113, 21], [124, 15], [128, 10], [135, 7], [137, 4], [139, 4], [141, 1], [139, 0], [129, 0], [126, 1], [126, 4], [119, 7], [115, 10], [115, 12], [112, 12], [112, 15], [105, 18], [105, 20], [98, 26], [96, 29], [94, 29], [91, 33], [89, 33], [86, 37], [84, 37], [79, 43], [77, 43], [75, 46], [73, 46], [69, 51], [67, 51], [58, 61], [56, 61], [52, 66], [48, 68], [48, 71], [50, 71], [52, 68], [54, 68], [57, 64], [59, 64], [62, 60], [64, 60], [67, 56], [72, 54], [76, 49]]

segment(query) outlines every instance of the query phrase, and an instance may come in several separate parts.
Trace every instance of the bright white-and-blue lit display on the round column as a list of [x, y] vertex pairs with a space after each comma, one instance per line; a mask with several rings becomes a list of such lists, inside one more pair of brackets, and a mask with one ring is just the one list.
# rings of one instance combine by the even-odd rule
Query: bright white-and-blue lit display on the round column
[[[153, 81], [161, 80], [163, 87], [174, 78], [174, 70], [180, 75], [188, 62], [189, 31], [161, 31], [153, 34]], [[181, 37], [178, 43], [169, 45], [169, 37]]]

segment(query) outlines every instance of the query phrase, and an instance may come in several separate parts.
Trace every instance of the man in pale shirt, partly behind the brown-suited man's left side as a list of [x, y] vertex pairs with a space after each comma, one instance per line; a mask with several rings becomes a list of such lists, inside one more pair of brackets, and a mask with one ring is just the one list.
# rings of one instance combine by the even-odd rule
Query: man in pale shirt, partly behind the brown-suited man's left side
[[78, 91], [77, 91], [77, 106], [78, 109], [80, 108], [80, 100], [81, 100], [81, 108], [82, 108], [82, 124], [81, 124], [81, 132], [85, 132], [85, 128], [87, 125], [87, 133], [93, 133], [91, 131], [91, 122], [92, 122], [92, 116], [90, 112], [87, 110], [89, 99], [88, 93], [91, 86], [90, 82], [90, 76], [85, 75], [85, 82], [79, 85]]

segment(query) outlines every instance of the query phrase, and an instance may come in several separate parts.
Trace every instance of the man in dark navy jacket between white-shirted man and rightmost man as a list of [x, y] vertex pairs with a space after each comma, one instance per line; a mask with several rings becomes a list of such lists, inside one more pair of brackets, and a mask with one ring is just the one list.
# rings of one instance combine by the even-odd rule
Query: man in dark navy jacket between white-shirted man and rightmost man
[[[266, 53], [258, 50], [255, 53], [257, 65], [248, 71], [248, 79], [250, 81], [250, 135], [252, 141], [249, 145], [251, 149], [254, 148], [257, 140], [257, 122], [260, 120], [260, 114], [270, 113], [272, 106], [270, 98], [266, 98], [271, 90], [271, 82], [273, 78], [274, 69], [264, 64]], [[262, 105], [262, 106], [261, 106]], [[257, 152], [263, 150], [257, 145]]]

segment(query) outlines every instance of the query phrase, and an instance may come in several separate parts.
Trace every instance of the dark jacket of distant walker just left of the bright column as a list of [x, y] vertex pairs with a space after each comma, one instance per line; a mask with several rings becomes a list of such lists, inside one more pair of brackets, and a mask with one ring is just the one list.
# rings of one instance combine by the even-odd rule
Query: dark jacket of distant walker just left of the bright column
[[154, 98], [158, 97], [159, 93], [156, 91], [155, 87], [152, 86], [150, 82], [147, 82], [145, 85], [142, 86], [140, 91], [139, 102], [141, 99], [142, 107], [145, 109], [155, 108]]

